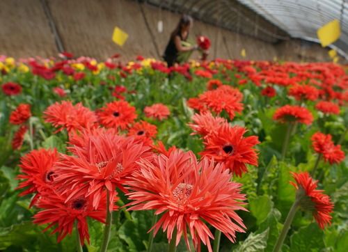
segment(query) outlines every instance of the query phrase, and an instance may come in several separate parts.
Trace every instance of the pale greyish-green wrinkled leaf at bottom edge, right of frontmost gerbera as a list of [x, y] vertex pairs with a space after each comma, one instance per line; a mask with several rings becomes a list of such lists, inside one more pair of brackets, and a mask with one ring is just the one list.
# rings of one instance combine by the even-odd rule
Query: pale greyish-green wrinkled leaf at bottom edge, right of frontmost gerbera
[[267, 247], [269, 228], [260, 234], [250, 233], [244, 242], [239, 242], [236, 252], [261, 252]]

